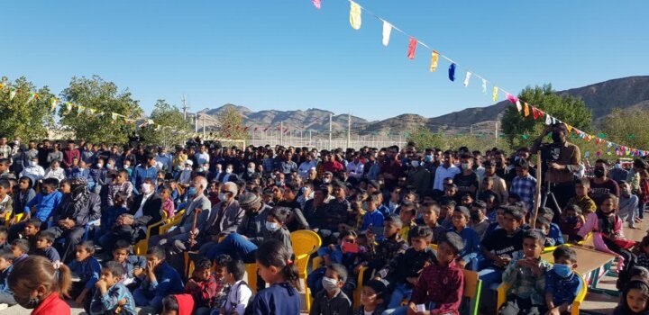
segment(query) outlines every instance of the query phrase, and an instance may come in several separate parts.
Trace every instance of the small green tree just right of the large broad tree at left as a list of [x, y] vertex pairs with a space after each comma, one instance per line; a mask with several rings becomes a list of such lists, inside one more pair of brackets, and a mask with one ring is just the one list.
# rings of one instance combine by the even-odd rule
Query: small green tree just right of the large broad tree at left
[[143, 142], [157, 146], [184, 144], [189, 138], [189, 123], [178, 107], [165, 100], [158, 100], [151, 112], [155, 125], [148, 125], [140, 130]]

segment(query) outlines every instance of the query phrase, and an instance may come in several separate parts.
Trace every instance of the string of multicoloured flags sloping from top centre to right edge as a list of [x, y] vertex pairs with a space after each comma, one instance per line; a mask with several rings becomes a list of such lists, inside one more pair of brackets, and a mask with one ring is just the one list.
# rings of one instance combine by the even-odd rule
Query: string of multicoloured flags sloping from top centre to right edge
[[[407, 58], [414, 59], [415, 55], [416, 55], [415, 54], [416, 53], [416, 48], [417, 48], [417, 46], [421, 45], [421, 46], [425, 47], [426, 49], [431, 50], [430, 71], [434, 72], [437, 69], [438, 63], [439, 63], [439, 58], [441, 57], [441, 58], [445, 59], [446, 61], [448, 61], [450, 63], [449, 68], [448, 68], [448, 77], [449, 77], [450, 81], [452, 81], [452, 82], [455, 81], [455, 78], [456, 78], [455, 73], [461, 67], [457, 62], [455, 62], [451, 58], [443, 55], [442, 53], [439, 52], [439, 50], [431, 49], [431, 47], [428, 46], [427, 44], [425, 44], [425, 42], [423, 42], [421, 40], [417, 40], [415, 36], [413, 36], [411, 34], [408, 34], [406, 31], [402, 31], [402, 30], [398, 29], [398, 27], [396, 27], [394, 24], [389, 23], [384, 18], [380, 17], [377, 14], [372, 13], [370, 10], [366, 9], [365, 7], [361, 6], [360, 4], [357, 4], [353, 0], [347, 0], [347, 1], [350, 2], [350, 23], [352, 25], [352, 29], [354, 29], [354, 30], [360, 30], [361, 29], [361, 14], [362, 14], [362, 12], [366, 12], [366, 13], [374, 16], [381, 23], [383, 23], [382, 41], [381, 41], [383, 46], [388, 46], [389, 38], [391, 36], [392, 30], [398, 31], [398, 32], [404, 34], [405, 36], [407, 36], [407, 38], [409, 38], [408, 47], [407, 47]], [[322, 7], [322, 1], [320, 1], [320, 0], [312, 0], [312, 2], [313, 2], [313, 4], [315, 5], [315, 7], [317, 9], [320, 9]], [[464, 81], [463, 81], [464, 86], [469, 86], [469, 83], [471, 81], [471, 77], [473, 77], [473, 76], [480, 79], [480, 81], [482, 83], [481, 87], [482, 87], [482, 93], [483, 94], [487, 94], [488, 85], [493, 85], [493, 84], [491, 84], [489, 82], [489, 80], [487, 78], [485, 78], [484, 76], [480, 76], [479, 74], [477, 74], [475, 71], [471, 70], [470, 68], [462, 67], [462, 71], [466, 72], [466, 74], [464, 76]], [[590, 142], [590, 140], [594, 140], [597, 145], [606, 145], [607, 148], [609, 148], [609, 152], [610, 152], [610, 149], [615, 148], [615, 152], [619, 156], [623, 156], [623, 155], [627, 155], [627, 156], [628, 155], [644, 156], [644, 155], [649, 154], [649, 151], [641, 150], [641, 149], [637, 149], [637, 148], [628, 148], [628, 147], [625, 147], [625, 146], [618, 145], [616, 143], [610, 142], [607, 139], [604, 139], [602, 137], [590, 135], [590, 134], [588, 134], [588, 133], [586, 133], [586, 132], [584, 132], [582, 130], [578, 130], [577, 128], [572, 127], [567, 122], [560, 121], [560, 120], [556, 119], [555, 117], [553, 117], [552, 115], [541, 111], [540, 109], [538, 109], [537, 107], [535, 107], [532, 104], [529, 104], [529, 103], [521, 104], [521, 102], [518, 100], [518, 98], [516, 96], [514, 96], [513, 94], [510, 94], [509, 92], [507, 92], [507, 90], [503, 89], [502, 87], [499, 87], [498, 85], [493, 85], [493, 88], [492, 88], [492, 100], [494, 102], [497, 102], [498, 101], [498, 95], [501, 94], [501, 93], [505, 94], [505, 97], [507, 98], [507, 100], [510, 103], [515, 104], [517, 111], [522, 112], [522, 114], [524, 114], [525, 117], [530, 116], [530, 114], [532, 115], [532, 117], [535, 120], [545, 117], [545, 124], [552, 124], [552, 123], [555, 123], [555, 122], [563, 122], [568, 127], [569, 132], [574, 132], [574, 134], [576, 134], [581, 139], [586, 140], [587, 142]], [[526, 135], [523, 135], [523, 136], [526, 136]], [[631, 138], [629, 138], [629, 139], [631, 139]], [[587, 152], [587, 153], [589, 153], [589, 152]], [[598, 156], [599, 156], [599, 153], [598, 153]]]

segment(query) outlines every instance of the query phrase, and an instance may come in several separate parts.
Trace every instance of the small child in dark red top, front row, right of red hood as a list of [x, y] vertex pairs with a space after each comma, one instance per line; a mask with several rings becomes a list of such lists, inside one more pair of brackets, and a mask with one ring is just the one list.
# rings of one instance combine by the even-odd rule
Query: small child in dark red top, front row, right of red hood
[[201, 258], [195, 266], [192, 276], [185, 284], [185, 293], [194, 298], [194, 314], [205, 315], [215, 308], [216, 294], [220, 292], [214, 275], [211, 275], [212, 262]]

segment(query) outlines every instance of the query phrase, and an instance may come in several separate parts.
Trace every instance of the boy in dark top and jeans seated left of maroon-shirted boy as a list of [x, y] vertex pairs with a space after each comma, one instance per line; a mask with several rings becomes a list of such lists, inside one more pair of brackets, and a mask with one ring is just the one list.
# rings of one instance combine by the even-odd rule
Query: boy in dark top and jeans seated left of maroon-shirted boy
[[428, 227], [410, 229], [408, 235], [410, 248], [392, 259], [388, 268], [381, 269], [377, 273], [377, 279], [388, 280], [389, 286], [392, 287], [388, 309], [397, 308], [404, 299], [410, 300], [422, 269], [434, 262], [434, 252], [429, 247], [431, 238], [433, 238], [433, 231]]

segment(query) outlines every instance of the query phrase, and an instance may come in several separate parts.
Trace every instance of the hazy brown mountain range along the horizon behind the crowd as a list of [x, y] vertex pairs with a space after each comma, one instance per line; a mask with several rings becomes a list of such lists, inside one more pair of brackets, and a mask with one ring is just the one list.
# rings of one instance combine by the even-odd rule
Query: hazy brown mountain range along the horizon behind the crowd
[[[628, 76], [600, 82], [593, 85], [558, 91], [558, 94], [570, 94], [580, 98], [592, 111], [593, 121], [601, 121], [614, 108], [649, 109], [649, 76]], [[481, 132], [492, 131], [498, 128], [498, 121], [508, 101], [498, 102], [485, 107], [466, 108], [459, 112], [451, 112], [442, 116], [426, 118], [424, 116], [405, 113], [381, 121], [367, 121], [361, 117], [352, 116], [352, 130], [354, 132], [384, 132], [390, 130], [415, 130], [416, 127], [425, 125], [430, 130], [446, 130], [456, 132]], [[203, 116], [206, 116], [206, 127], [210, 130], [215, 127], [215, 116], [232, 106], [243, 116], [243, 123], [247, 126], [278, 126], [283, 122], [285, 128], [296, 130], [329, 130], [329, 116], [332, 115], [332, 129], [342, 131], [347, 129], [347, 114], [335, 114], [317, 108], [306, 111], [276, 111], [267, 110], [252, 112], [244, 106], [225, 104], [215, 109], [205, 109], [198, 112], [198, 127], [202, 130]]]

